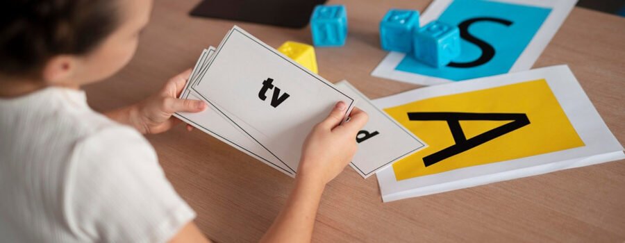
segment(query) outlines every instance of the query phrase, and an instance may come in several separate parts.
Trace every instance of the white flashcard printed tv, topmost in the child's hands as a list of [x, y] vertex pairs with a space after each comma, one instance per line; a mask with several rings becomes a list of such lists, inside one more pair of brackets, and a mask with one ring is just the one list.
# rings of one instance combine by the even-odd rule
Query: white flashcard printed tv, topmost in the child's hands
[[190, 89], [272, 153], [293, 173], [315, 124], [355, 100], [238, 26], [228, 32]]

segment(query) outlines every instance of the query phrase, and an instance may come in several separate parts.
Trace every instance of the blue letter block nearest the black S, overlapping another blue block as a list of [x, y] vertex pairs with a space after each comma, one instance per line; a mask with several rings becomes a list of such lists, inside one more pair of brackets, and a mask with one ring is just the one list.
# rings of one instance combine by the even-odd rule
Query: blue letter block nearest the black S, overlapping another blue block
[[412, 49], [417, 60], [433, 67], [443, 67], [460, 55], [458, 27], [433, 21], [423, 28], [415, 28]]

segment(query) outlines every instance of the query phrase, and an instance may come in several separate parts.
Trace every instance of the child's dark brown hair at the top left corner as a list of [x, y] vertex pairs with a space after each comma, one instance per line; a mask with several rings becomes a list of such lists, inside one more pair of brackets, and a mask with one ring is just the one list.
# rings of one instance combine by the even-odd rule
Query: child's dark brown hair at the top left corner
[[0, 3], [0, 73], [38, 75], [58, 54], [92, 51], [119, 24], [115, 0], [8, 0]]

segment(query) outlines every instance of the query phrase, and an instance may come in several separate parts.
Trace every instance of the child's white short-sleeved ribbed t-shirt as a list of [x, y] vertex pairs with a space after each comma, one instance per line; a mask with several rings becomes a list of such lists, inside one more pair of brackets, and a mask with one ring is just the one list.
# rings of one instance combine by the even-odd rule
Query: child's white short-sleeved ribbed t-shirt
[[1, 242], [166, 242], [194, 217], [149, 142], [84, 92], [0, 99]]

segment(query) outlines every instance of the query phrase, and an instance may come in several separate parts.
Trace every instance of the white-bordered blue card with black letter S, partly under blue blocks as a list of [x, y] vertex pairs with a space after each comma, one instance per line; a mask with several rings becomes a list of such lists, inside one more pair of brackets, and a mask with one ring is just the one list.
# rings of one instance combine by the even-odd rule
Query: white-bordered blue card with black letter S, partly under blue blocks
[[[460, 55], [430, 67], [391, 51], [372, 76], [418, 85], [439, 85], [530, 69], [565, 22], [577, 0], [434, 0], [419, 19], [460, 31]], [[401, 20], [401, 19], [400, 19]]]

